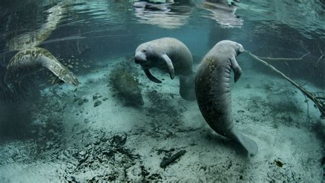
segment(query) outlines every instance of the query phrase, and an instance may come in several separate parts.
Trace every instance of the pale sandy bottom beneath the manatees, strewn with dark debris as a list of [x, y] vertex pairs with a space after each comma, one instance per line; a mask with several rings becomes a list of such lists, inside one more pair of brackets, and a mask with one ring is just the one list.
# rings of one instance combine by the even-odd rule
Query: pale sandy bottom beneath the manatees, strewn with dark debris
[[[42, 90], [30, 110], [34, 125], [43, 127], [37, 138], [1, 144], [0, 182], [324, 182], [324, 120], [309, 101], [306, 122], [304, 95], [289, 82], [243, 69], [232, 83], [236, 126], [258, 144], [248, 158], [210, 130], [196, 101], [180, 98], [177, 77], [152, 71], [165, 79], [156, 84], [132, 63], [145, 105], [125, 106], [108, 82], [119, 62], [125, 58], [78, 76], [77, 90], [67, 84]], [[94, 107], [96, 93], [101, 104]], [[186, 153], [160, 168], [180, 150]]]

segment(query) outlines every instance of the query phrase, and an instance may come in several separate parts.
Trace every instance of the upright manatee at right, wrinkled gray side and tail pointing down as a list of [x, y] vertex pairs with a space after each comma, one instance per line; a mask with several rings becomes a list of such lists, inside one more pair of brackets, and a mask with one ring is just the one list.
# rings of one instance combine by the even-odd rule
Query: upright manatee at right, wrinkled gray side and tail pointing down
[[243, 46], [230, 40], [222, 40], [204, 56], [195, 78], [197, 104], [208, 125], [221, 136], [241, 144], [250, 156], [257, 153], [257, 145], [234, 126], [231, 108], [230, 70], [234, 82], [241, 76], [241, 68], [235, 59]]

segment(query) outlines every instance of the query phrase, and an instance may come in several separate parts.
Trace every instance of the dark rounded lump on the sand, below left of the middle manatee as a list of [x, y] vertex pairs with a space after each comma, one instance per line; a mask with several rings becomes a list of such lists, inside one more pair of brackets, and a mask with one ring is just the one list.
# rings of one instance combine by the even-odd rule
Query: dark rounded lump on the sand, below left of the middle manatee
[[125, 101], [126, 106], [143, 106], [145, 103], [141, 95], [139, 81], [123, 69], [110, 74], [112, 88], [117, 90], [119, 97]]

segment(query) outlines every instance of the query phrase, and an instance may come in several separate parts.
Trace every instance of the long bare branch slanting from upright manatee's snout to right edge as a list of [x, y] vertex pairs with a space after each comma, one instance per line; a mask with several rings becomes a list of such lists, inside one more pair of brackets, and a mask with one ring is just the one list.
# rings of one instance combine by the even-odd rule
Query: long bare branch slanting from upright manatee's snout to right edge
[[252, 58], [254, 58], [255, 60], [257, 60], [258, 62], [261, 62], [265, 66], [269, 67], [269, 69], [272, 69], [272, 71], [274, 71], [274, 72], [278, 73], [279, 75], [281, 75], [282, 77], [284, 77], [285, 80], [287, 80], [288, 82], [290, 82], [291, 84], [293, 84], [293, 86], [296, 86], [296, 88], [298, 88], [304, 95], [306, 95], [306, 97], [308, 97], [309, 99], [311, 99], [311, 101], [313, 101], [313, 103], [315, 103], [315, 105], [318, 108], [318, 110], [320, 110], [321, 117], [322, 118], [325, 117], [325, 106], [323, 105], [322, 101], [320, 101], [320, 98], [319, 97], [312, 95], [307, 90], [305, 90], [304, 88], [302, 88], [301, 86], [299, 86], [296, 82], [294, 82], [289, 77], [287, 77], [287, 75], [285, 75], [281, 71], [278, 71], [278, 69], [276, 69], [271, 64], [265, 62], [264, 60], [262, 60], [258, 56], [255, 56], [254, 54], [250, 53], [250, 51], [245, 51], [245, 52], [247, 52], [250, 56], [252, 56]]

